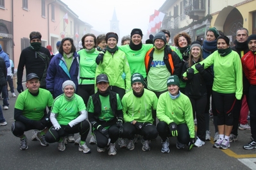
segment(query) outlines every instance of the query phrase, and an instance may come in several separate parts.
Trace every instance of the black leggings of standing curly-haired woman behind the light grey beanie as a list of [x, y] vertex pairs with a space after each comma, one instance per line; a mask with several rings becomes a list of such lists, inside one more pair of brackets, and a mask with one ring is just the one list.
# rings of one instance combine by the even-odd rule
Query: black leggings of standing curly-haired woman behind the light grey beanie
[[89, 97], [94, 94], [94, 84], [80, 84], [78, 85], [78, 95], [83, 98], [85, 106], [87, 106]]

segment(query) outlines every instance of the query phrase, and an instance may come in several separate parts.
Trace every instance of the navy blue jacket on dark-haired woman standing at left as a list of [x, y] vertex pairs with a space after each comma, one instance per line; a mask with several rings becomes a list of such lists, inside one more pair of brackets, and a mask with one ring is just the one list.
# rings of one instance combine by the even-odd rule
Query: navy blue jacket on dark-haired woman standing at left
[[63, 93], [62, 84], [64, 81], [71, 80], [78, 89], [79, 80], [79, 56], [73, 53], [71, 68], [68, 70], [62, 54], [56, 54], [49, 64], [46, 76], [46, 89], [48, 89], [54, 98]]

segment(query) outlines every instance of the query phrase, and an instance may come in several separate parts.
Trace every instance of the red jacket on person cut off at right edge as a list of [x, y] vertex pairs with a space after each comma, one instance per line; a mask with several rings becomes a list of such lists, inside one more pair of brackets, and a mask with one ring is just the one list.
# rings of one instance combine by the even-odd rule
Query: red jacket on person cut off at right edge
[[256, 85], [256, 52], [250, 50], [244, 54], [242, 58], [242, 66], [245, 77], [248, 79], [250, 84]]

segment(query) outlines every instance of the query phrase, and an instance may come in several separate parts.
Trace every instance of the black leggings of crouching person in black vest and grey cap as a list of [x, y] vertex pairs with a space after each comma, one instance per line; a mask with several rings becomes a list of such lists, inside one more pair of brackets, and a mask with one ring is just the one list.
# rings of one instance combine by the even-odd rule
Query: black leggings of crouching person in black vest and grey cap
[[[94, 135], [96, 137], [97, 146], [99, 148], [105, 148], [108, 145], [108, 139], [105, 135], [101, 134], [99, 130], [94, 130]], [[110, 137], [110, 143], [115, 143], [119, 137], [119, 128], [116, 125], [112, 125], [108, 128], [108, 135]]]

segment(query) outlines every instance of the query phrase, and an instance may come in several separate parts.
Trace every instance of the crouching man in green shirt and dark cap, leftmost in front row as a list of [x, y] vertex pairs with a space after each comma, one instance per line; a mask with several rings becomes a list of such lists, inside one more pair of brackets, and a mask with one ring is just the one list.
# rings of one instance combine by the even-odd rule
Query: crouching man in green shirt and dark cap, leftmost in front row
[[42, 146], [48, 146], [44, 135], [51, 127], [49, 114], [46, 114], [46, 106], [51, 111], [53, 97], [46, 89], [39, 88], [39, 77], [35, 73], [29, 73], [26, 77], [26, 89], [17, 98], [14, 107], [14, 119], [12, 123], [13, 135], [21, 138], [20, 149], [27, 150], [27, 138], [24, 132], [37, 129], [36, 138]]

